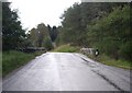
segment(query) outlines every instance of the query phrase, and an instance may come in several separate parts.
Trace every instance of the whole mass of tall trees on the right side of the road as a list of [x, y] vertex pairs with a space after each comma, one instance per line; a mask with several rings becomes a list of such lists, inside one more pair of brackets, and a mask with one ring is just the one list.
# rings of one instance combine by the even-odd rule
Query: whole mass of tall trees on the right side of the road
[[132, 61], [131, 12], [130, 3], [75, 3], [62, 15], [56, 43], [94, 47], [111, 58]]

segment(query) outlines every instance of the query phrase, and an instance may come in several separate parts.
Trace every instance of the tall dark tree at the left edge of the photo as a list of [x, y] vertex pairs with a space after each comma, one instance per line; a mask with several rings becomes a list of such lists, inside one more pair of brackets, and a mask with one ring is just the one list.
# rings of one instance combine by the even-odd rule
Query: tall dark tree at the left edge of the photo
[[10, 9], [9, 2], [2, 3], [2, 46], [3, 50], [14, 49], [25, 39], [16, 11]]

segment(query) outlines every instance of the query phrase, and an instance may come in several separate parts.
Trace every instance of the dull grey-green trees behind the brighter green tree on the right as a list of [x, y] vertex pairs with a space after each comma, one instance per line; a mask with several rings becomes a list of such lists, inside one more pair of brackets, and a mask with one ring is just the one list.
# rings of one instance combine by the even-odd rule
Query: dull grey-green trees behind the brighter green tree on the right
[[64, 12], [59, 40], [89, 46], [86, 27], [91, 21], [105, 16], [112, 10], [113, 3], [75, 3]]

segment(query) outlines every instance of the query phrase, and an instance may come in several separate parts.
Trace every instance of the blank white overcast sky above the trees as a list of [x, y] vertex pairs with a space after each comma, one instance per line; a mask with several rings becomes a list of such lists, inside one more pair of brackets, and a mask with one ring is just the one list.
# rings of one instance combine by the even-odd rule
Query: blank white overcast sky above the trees
[[31, 30], [38, 23], [59, 25], [64, 11], [80, 0], [9, 0], [11, 8], [19, 10], [23, 28]]

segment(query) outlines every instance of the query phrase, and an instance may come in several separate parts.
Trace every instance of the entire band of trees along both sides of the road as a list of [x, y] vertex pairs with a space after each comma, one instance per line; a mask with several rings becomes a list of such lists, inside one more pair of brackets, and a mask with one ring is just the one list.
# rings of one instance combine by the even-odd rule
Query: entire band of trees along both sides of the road
[[51, 27], [40, 23], [28, 31], [22, 28], [18, 10], [2, 4], [2, 50], [61, 45], [94, 47], [114, 59], [132, 61], [131, 3], [75, 3], [61, 16], [62, 25]]

